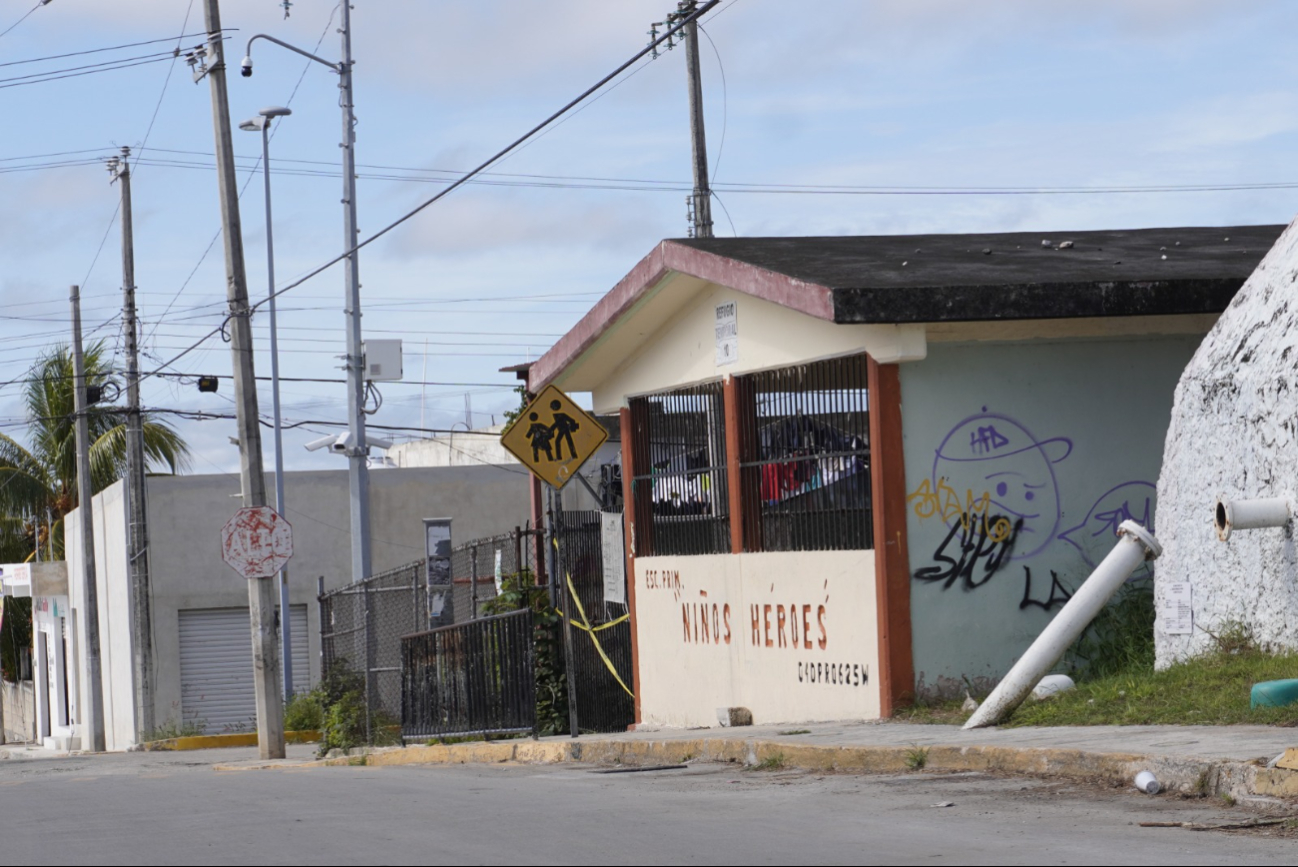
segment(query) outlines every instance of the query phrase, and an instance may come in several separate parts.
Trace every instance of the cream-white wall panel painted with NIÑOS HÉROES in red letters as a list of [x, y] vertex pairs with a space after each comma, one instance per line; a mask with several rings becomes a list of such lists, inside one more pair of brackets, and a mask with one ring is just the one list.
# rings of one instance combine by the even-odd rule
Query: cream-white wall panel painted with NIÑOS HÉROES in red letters
[[635, 561], [644, 723], [879, 716], [872, 550]]

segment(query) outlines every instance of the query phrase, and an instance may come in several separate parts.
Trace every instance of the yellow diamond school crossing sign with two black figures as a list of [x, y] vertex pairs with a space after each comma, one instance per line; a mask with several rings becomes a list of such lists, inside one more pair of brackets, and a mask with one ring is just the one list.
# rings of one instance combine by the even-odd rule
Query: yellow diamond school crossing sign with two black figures
[[505, 428], [500, 444], [537, 479], [562, 488], [607, 439], [609, 432], [593, 415], [554, 385], [546, 385]]

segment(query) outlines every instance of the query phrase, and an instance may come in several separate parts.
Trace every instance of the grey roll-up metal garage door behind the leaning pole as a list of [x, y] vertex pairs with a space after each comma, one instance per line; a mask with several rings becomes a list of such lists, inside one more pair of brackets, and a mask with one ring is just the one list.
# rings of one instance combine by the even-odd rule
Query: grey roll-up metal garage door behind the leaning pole
[[[310, 685], [306, 606], [289, 606], [293, 685]], [[180, 611], [180, 713], [208, 733], [257, 731], [248, 609]]]

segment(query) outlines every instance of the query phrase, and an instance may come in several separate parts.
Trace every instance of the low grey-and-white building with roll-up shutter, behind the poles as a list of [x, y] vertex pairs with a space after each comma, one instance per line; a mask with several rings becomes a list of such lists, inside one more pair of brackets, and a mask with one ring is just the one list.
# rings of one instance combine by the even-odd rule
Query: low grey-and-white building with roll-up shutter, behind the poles
[[[273, 484], [267, 479], [267, 487]], [[350, 583], [350, 533], [345, 471], [286, 475], [287, 518], [293, 527], [289, 617], [293, 684], [310, 685], [319, 671], [317, 579], [326, 589]], [[202, 722], [209, 732], [256, 728], [248, 588], [221, 559], [221, 527], [240, 506], [239, 476], [188, 475], [148, 479], [152, 611], [152, 692], [156, 726]], [[528, 514], [528, 475], [506, 467], [386, 470], [370, 475], [373, 572], [424, 556], [423, 519], [450, 517], [456, 539], [475, 539], [522, 524]], [[132, 605], [126, 561], [123, 485], [93, 500], [100, 655], [105, 739], [109, 750], [138, 742], [132, 670]], [[66, 519], [71, 641], [80, 646], [82, 514]], [[83, 657], [83, 650], [77, 654]], [[79, 678], [84, 706], [87, 683]], [[84, 722], [84, 720], [78, 720]]]

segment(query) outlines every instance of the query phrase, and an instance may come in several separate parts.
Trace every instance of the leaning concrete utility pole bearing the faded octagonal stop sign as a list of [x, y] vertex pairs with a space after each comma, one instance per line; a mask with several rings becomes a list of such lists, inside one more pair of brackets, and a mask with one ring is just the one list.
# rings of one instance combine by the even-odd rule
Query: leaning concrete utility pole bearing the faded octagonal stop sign
[[[230, 350], [234, 356], [235, 415], [239, 431], [239, 475], [244, 506], [266, 505], [266, 476], [261, 463], [261, 426], [257, 380], [253, 372], [248, 276], [244, 269], [243, 226], [230, 128], [230, 97], [218, 0], [204, 0], [208, 27], [206, 78], [212, 84], [212, 123], [215, 134], [217, 182], [221, 188], [221, 225], [226, 247], [226, 297], [230, 304]], [[343, 4], [347, 8], [347, 1]], [[217, 528], [213, 527], [213, 532]], [[257, 679], [257, 745], [261, 758], [284, 758], [284, 702], [279, 690], [279, 652], [275, 646], [275, 585], [248, 583], [252, 618], [253, 672]], [[286, 611], [287, 615], [287, 611]]]

